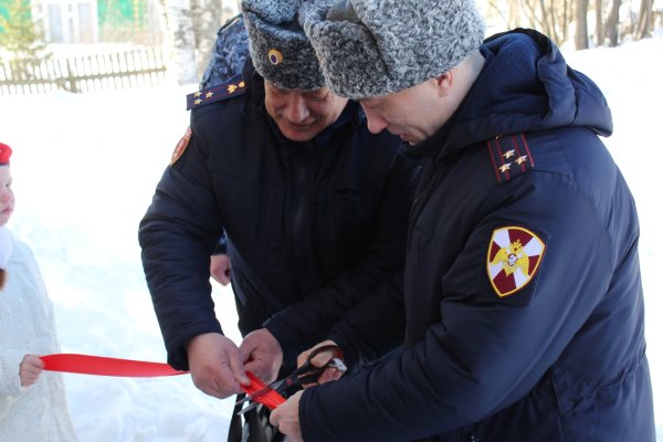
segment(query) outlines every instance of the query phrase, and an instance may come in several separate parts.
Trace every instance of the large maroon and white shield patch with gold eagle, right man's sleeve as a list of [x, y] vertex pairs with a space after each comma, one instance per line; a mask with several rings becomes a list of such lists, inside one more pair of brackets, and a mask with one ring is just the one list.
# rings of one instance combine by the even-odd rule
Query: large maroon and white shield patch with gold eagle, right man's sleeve
[[491, 238], [487, 272], [497, 296], [512, 295], [536, 275], [546, 244], [527, 229], [509, 225], [496, 229]]

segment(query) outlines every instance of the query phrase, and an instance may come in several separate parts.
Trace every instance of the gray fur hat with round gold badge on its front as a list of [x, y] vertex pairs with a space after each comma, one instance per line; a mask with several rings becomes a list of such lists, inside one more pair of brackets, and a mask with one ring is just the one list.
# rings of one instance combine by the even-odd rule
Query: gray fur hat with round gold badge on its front
[[297, 12], [301, 0], [243, 0], [253, 65], [270, 83], [288, 90], [325, 86], [315, 51], [304, 34]]

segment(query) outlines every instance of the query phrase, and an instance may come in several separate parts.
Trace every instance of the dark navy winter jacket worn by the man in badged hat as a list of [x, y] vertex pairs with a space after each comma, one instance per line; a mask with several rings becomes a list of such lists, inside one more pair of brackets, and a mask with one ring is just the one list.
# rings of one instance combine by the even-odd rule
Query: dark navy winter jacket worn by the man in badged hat
[[[179, 369], [193, 336], [222, 333], [209, 257], [223, 230], [240, 330], [266, 325], [291, 365], [403, 267], [420, 161], [399, 155], [399, 138], [371, 135], [352, 102], [313, 140], [291, 141], [266, 114], [250, 62], [244, 78], [229, 83], [245, 87], [227, 98], [193, 108], [186, 148], [140, 222], [147, 283]], [[301, 302], [292, 317], [284, 312]], [[400, 316], [387, 347], [401, 344]]]

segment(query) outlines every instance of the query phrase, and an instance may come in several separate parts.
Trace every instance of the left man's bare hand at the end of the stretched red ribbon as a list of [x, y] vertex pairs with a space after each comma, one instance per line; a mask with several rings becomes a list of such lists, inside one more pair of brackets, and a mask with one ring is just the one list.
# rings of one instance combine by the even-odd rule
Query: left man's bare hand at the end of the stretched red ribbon
[[238, 347], [221, 334], [196, 336], [189, 341], [187, 352], [193, 385], [214, 398], [225, 399], [243, 392], [240, 383], [251, 383], [240, 362]]

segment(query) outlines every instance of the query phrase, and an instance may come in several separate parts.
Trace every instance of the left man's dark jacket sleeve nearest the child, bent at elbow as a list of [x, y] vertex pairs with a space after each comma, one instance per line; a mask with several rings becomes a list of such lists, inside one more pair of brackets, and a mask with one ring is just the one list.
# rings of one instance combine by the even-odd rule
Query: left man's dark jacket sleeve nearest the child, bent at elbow
[[183, 154], [164, 172], [138, 231], [168, 362], [182, 370], [188, 369], [186, 345], [192, 337], [222, 333], [211, 297], [209, 259], [223, 225], [206, 168], [207, 143], [194, 125], [191, 128]]

